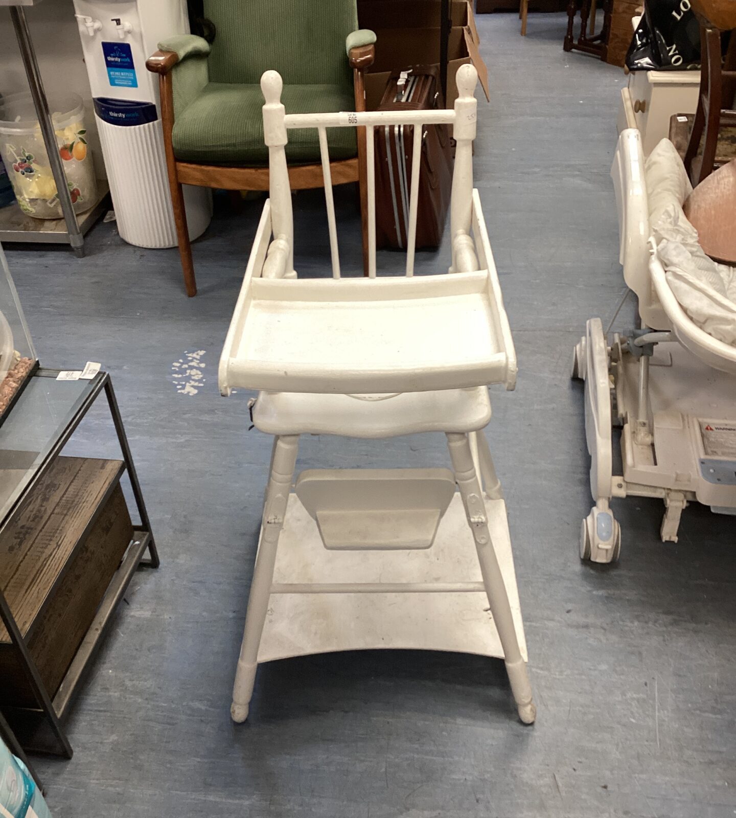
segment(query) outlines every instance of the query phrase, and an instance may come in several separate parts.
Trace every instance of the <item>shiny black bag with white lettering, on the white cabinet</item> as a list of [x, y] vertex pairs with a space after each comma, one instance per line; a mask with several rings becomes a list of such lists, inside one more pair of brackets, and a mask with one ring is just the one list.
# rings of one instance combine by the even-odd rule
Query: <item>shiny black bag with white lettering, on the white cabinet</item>
[[700, 24], [690, 0], [644, 0], [644, 15], [626, 54], [630, 71], [700, 68]]

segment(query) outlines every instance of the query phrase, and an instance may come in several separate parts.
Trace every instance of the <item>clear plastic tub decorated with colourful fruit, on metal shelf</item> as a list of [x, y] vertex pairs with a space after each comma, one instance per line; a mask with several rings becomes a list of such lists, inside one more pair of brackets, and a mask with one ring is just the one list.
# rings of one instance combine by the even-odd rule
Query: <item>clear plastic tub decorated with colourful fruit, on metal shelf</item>
[[[83, 102], [66, 93], [49, 97], [48, 103], [74, 211], [83, 213], [97, 195]], [[61, 218], [56, 181], [29, 93], [0, 99], [0, 155], [20, 209], [34, 218]]]

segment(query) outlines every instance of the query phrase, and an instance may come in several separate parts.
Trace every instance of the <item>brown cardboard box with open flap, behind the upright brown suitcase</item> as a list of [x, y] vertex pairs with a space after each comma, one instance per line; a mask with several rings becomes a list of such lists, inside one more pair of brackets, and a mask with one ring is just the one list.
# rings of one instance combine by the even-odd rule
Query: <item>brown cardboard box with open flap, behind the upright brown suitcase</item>
[[[397, 2], [402, 6], [403, 2]], [[375, 29], [374, 29], [375, 30]], [[379, 106], [386, 83], [392, 72], [410, 65], [439, 65], [440, 29], [379, 29], [375, 32], [375, 62], [366, 74], [366, 106], [375, 110]], [[473, 63], [478, 70], [478, 80], [490, 101], [488, 70], [478, 52], [469, 26], [450, 29], [447, 43], [447, 101], [451, 108], [457, 99], [456, 74], [460, 65]]]

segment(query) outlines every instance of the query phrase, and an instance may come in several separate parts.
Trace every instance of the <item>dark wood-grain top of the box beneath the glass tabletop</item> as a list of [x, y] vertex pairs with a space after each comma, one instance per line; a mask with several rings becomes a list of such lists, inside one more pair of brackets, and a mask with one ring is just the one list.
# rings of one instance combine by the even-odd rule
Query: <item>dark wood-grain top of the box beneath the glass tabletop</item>
[[[0, 587], [26, 638], [125, 465], [57, 457], [0, 535]], [[0, 625], [0, 643], [10, 635]]]

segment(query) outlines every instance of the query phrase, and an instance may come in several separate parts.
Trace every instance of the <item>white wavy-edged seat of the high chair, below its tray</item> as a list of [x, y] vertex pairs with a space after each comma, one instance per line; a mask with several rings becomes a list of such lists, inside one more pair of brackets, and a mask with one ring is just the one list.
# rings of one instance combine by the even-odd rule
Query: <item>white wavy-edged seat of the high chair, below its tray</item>
[[391, 438], [415, 432], [475, 432], [491, 420], [485, 386], [393, 397], [261, 392], [253, 422], [266, 434]]

